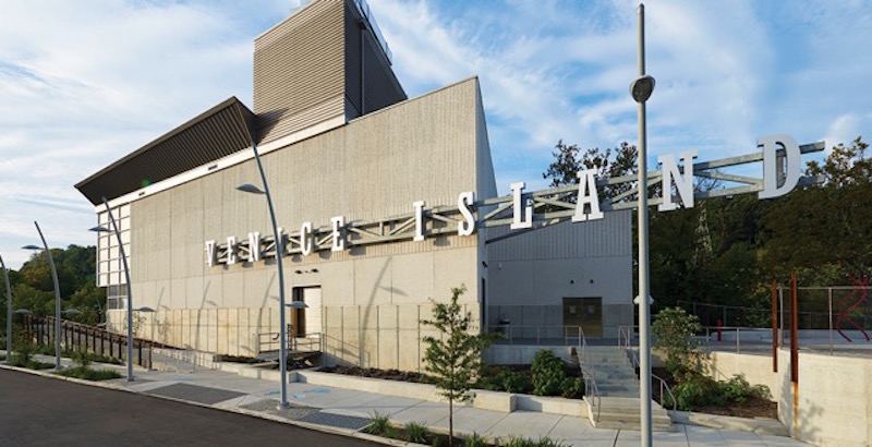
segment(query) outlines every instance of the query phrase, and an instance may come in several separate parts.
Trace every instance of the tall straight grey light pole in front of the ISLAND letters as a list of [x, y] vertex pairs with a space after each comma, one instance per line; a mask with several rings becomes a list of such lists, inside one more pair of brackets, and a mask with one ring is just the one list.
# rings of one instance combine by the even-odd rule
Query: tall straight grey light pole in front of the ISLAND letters
[[[654, 77], [645, 74], [645, 5], [639, 4], [639, 77], [630, 95], [639, 104], [639, 407], [641, 445], [651, 446], [651, 292], [647, 241], [647, 132], [645, 101], [654, 92]], [[669, 194], [664, 191], [664, 194]]]

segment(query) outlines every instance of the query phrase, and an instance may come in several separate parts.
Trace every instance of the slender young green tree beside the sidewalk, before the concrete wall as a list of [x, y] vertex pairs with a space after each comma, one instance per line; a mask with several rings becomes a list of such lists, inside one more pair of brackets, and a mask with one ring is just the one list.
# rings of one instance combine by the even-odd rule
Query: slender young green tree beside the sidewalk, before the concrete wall
[[424, 370], [439, 394], [448, 399], [448, 446], [453, 446], [455, 401], [463, 402], [472, 396], [470, 389], [475, 382], [482, 364], [482, 350], [491, 346], [494, 337], [488, 334], [472, 334], [472, 314], [463, 313], [457, 300], [467, 291], [465, 286], [451, 289], [450, 303], [436, 303], [433, 319], [422, 319], [421, 324], [439, 331], [439, 338], [426, 336]]

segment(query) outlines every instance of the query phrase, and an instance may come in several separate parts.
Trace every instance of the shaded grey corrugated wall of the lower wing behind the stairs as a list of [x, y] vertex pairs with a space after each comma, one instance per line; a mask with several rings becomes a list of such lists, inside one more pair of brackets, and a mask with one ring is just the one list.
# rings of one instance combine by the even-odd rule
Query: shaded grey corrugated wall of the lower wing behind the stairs
[[602, 220], [567, 220], [488, 243], [488, 324], [505, 314], [513, 325], [561, 326], [564, 298], [602, 298], [602, 335], [617, 337], [633, 319], [631, 217], [606, 212]]

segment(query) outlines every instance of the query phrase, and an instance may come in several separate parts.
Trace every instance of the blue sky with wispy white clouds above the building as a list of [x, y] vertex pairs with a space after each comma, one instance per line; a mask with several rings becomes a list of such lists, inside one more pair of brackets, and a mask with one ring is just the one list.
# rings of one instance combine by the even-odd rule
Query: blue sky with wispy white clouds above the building
[[[634, 143], [637, 2], [370, 0], [410, 97], [477, 75], [501, 192], [544, 188], [562, 138]], [[253, 39], [299, 1], [8, 2], [0, 15], [0, 254], [94, 244], [73, 188], [199, 112], [251, 106]], [[646, 3], [650, 160], [827, 146], [872, 128], [872, 2]], [[651, 162], [651, 161], [650, 161]]]

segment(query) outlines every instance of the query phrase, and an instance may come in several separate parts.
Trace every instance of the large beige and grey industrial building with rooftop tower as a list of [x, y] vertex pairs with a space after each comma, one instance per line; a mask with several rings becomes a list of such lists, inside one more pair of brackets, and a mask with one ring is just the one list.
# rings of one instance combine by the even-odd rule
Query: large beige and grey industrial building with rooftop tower
[[[491, 225], [499, 205], [475, 77], [407, 98], [363, 0], [314, 1], [255, 38], [250, 110], [229, 98], [76, 188], [113, 234], [98, 239], [110, 325], [254, 357], [277, 349], [276, 255], [294, 342], [328, 359], [420, 370], [420, 321], [465, 286], [482, 330], [611, 336], [632, 324], [628, 212], [589, 222]], [[256, 144], [281, 232], [272, 234]], [[304, 340], [304, 338], [306, 340]]]

